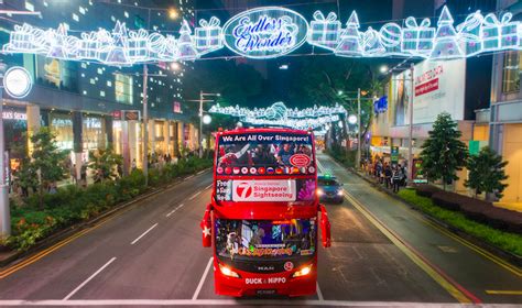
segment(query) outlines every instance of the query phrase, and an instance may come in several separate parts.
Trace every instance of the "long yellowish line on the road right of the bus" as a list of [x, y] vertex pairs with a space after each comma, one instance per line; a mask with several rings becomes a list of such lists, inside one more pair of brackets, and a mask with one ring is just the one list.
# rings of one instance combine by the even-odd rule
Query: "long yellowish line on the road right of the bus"
[[441, 268], [431, 263], [420, 252], [417, 252], [412, 245], [404, 241], [391, 229], [387, 228], [385, 224], [373, 216], [369, 210], [362, 206], [350, 193], [345, 190], [345, 198], [361, 212], [373, 226], [377, 227], [395, 246], [398, 246], [413, 263], [415, 263], [421, 270], [423, 270], [429, 277], [432, 277], [438, 285], [441, 285], [446, 292], [449, 293], [460, 304], [481, 304], [482, 301], [471, 294], [469, 290], [464, 288]]

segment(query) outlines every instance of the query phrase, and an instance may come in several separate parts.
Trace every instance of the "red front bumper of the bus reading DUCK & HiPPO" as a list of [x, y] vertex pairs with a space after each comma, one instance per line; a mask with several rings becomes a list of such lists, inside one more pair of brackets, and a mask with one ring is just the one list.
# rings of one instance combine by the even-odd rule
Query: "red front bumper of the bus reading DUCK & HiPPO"
[[214, 271], [216, 294], [242, 296], [306, 296], [316, 294], [317, 272], [313, 270], [303, 277], [292, 277], [292, 272], [257, 274], [238, 272], [239, 278], [228, 277], [218, 268]]

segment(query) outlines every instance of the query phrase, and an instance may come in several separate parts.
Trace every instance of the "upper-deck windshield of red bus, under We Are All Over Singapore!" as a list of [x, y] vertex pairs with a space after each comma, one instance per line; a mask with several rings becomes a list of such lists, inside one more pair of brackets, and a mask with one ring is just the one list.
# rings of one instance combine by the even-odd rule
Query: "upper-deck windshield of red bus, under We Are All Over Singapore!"
[[241, 133], [218, 140], [217, 175], [315, 174], [312, 136], [297, 133]]

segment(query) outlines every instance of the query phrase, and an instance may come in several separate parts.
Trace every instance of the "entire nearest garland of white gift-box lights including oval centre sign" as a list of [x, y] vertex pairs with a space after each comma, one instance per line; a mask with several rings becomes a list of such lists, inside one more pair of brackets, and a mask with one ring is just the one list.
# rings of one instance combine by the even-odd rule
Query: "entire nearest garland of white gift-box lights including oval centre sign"
[[[112, 31], [99, 29], [83, 32], [78, 36], [69, 35], [65, 25], [56, 30], [42, 30], [30, 24], [14, 25], [9, 43], [3, 45], [2, 51], [129, 66], [159, 61], [194, 61], [224, 46], [246, 57], [279, 57], [307, 41], [311, 45], [345, 57], [394, 56], [441, 61], [522, 50], [522, 24], [512, 21], [512, 18], [510, 12], [497, 16], [494, 13], [482, 15], [477, 11], [455, 28], [449, 10], [444, 7], [436, 24], [429, 19], [418, 21], [410, 16], [402, 25], [387, 23], [379, 30], [361, 30], [355, 11], [345, 24], [334, 12], [325, 16], [317, 11], [308, 25], [306, 19], [295, 11], [267, 7], [241, 12], [222, 28], [215, 16], [200, 20], [195, 29], [183, 21], [177, 35], [145, 30], [128, 31], [126, 24], [120, 22], [116, 23]], [[232, 20], [238, 24], [227, 26]], [[239, 23], [242, 20], [248, 21], [250, 30]], [[269, 20], [281, 21], [282, 26], [267, 26]], [[238, 29], [242, 29], [242, 32]], [[227, 43], [228, 37], [250, 45], [239, 51]]]

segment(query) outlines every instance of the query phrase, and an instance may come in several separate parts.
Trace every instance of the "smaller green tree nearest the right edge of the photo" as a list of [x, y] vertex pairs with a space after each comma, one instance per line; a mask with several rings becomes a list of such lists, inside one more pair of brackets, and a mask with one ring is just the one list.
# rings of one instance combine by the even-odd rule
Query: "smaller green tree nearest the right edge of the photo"
[[502, 156], [498, 155], [489, 146], [480, 150], [478, 155], [472, 155], [467, 168], [469, 178], [464, 185], [475, 190], [475, 197], [481, 193], [486, 193], [486, 198], [494, 196], [502, 197], [502, 191], [508, 187], [503, 182], [508, 179], [504, 168], [508, 162], [502, 161]]

